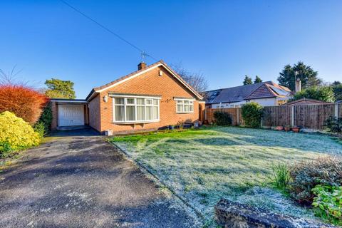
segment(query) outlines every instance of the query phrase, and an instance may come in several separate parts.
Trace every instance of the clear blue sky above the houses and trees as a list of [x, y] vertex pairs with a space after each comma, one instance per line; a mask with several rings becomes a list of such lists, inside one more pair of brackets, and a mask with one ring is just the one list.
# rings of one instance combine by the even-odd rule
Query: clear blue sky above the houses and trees
[[[342, 81], [342, 1], [85, 1], [69, 4], [157, 60], [202, 73], [210, 90], [245, 75], [276, 81], [304, 61]], [[0, 69], [43, 87], [75, 83], [77, 98], [137, 70], [140, 52], [60, 0], [0, 1]], [[146, 57], [152, 64], [154, 59]]]

